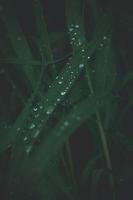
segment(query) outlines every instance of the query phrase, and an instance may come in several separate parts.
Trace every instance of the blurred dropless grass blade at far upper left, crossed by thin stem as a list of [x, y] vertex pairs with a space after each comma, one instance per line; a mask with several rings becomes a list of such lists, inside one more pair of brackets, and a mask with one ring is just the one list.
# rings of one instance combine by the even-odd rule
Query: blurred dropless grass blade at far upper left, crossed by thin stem
[[[24, 33], [21, 30], [18, 19], [14, 14], [14, 10], [12, 5], [9, 3], [7, 6], [6, 13], [2, 16], [4, 21], [8, 38], [10, 39], [10, 43], [12, 45], [12, 49], [17, 55], [17, 57], [21, 60], [32, 60], [33, 56], [25, 38]], [[36, 84], [34, 68], [32, 65], [22, 65], [21, 70], [24, 70], [30, 84], [34, 87]]]

